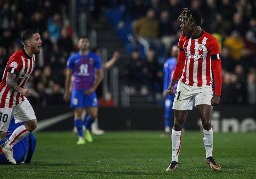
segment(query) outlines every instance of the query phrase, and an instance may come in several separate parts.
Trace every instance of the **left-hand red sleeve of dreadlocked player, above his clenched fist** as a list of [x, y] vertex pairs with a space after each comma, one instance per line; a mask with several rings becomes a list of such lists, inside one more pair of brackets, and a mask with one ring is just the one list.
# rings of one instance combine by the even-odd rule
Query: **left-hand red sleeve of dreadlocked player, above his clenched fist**
[[182, 69], [184, 68], [184, 65], [185, 65], [186, 56], [185, 56], [185, 50], [183, 49], [184, 39], [185, 39], [185, 36], [182, 34], [178, 44], [178, 47], [179, 47], [178, 61], [172, 76], [172, 79], [176, 79], [177, 81], [182, 76]]

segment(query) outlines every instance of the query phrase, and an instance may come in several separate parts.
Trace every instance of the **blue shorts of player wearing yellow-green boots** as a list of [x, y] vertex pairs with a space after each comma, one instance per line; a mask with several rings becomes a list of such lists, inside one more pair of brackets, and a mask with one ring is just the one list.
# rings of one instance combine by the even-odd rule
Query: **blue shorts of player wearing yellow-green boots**
[[70, 107], [71, 108], [88, 108], [98, 107], [98, 100], [96, 93], [85, 95], [85, 90], [73, 90], [71, 94]]

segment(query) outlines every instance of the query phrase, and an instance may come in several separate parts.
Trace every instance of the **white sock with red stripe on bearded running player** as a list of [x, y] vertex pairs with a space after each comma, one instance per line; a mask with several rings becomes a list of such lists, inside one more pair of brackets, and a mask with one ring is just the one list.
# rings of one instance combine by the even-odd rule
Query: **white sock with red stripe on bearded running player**
[[9, 140], [7, 140], [3, 147], [6, 149], [12, 149], [12, 147], [21, 141], [23, 138], [29, 135], [30, 132], [26, 129], [25, 125], [22, 125], [14, 130]]

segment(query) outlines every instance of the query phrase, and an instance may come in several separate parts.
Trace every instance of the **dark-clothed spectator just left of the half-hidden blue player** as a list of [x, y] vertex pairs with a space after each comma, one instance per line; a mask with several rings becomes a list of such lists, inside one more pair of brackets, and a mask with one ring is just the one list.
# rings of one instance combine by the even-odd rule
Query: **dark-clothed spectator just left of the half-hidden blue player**
[[151, 96], [156, 100], [161, 100], [163, 71], [162, 67], [157, 62], [154, 49], [150, 49], [149, 52], [147, 52], [142, 71], [145, 76], [145, 84]]

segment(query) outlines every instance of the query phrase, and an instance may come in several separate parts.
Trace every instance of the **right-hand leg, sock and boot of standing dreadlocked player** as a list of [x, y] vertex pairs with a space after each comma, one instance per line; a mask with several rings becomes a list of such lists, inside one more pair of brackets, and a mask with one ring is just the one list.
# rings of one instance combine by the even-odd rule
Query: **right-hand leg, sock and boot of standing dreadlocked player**
[[213, 158], [213, 128], [211, 126], [211, 113], [213, 112], [213, 106], [211, 105], [198, 105], [200, 118], [202, 121], [202, 132], [204, 140], [204, 148], [206, 150], [205, 162], [210, 165], [214, 171], [220, 170], [220, 165]]

